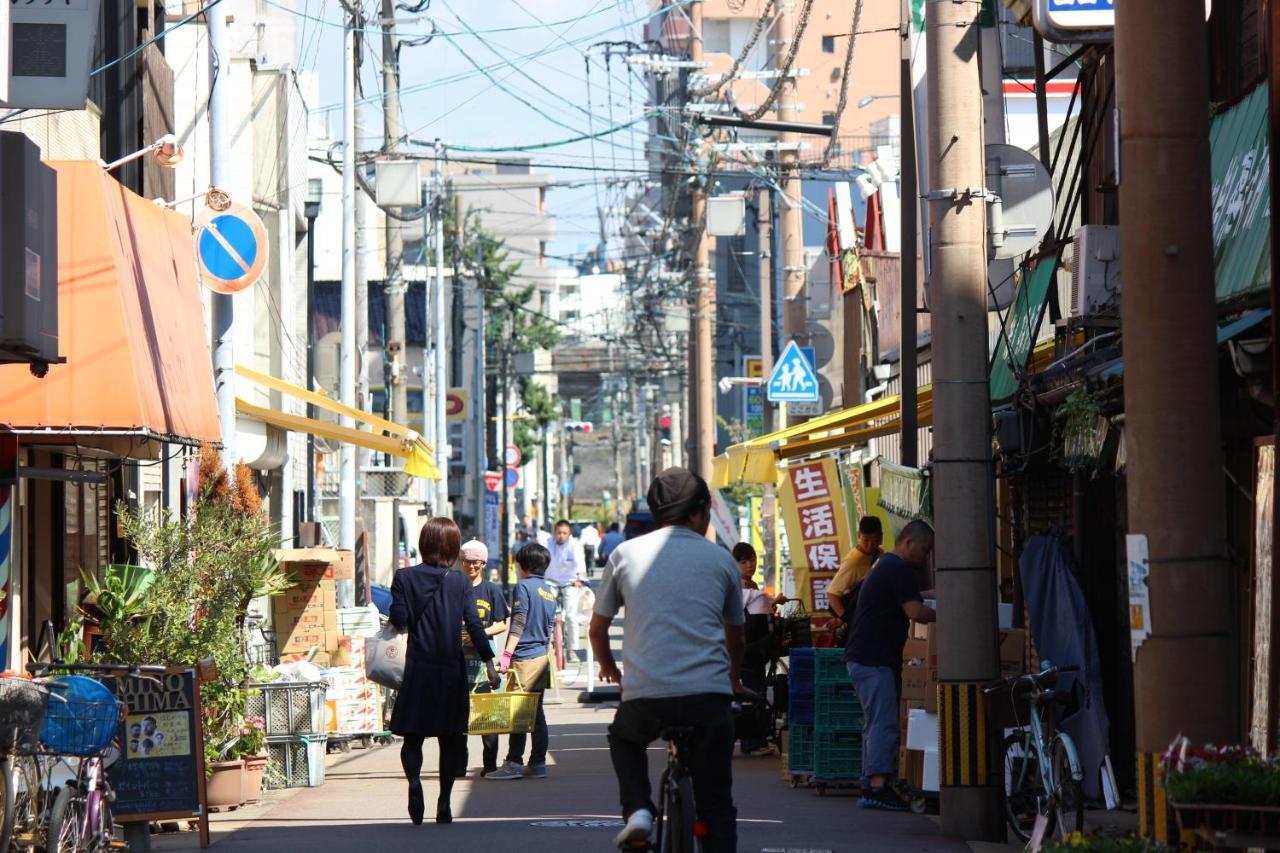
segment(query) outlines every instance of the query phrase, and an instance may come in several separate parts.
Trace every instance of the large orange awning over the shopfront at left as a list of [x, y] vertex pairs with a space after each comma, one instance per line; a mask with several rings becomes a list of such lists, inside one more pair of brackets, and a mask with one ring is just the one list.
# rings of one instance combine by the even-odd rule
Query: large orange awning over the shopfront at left
[[96, 163], [58, 170], [58, 342], [44, 379], [0, 370], [15, 429], [219, 441], [191, 222]]

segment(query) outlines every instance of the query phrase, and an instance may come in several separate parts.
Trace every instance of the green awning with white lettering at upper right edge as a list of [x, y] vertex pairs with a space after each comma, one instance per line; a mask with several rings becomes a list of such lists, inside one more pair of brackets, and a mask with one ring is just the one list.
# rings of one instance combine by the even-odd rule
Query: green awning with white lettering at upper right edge
[[1271, 287], [1267, 85], [1213, 118], [1213, 270], [1217, 301]]

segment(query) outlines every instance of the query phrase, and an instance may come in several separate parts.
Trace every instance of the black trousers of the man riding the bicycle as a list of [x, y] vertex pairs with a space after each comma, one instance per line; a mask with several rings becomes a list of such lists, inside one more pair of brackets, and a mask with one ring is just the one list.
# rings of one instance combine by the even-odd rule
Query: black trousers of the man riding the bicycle
[[731, 697], [721, 693], [631, 699], [618, 706], [609, 726], [609, 754], [618, 777], [622, 816], [648, 808], [657, 813], [649, 785], [645, 751], [667, 726], [696, 730], [691, 754], [684, 756], [694, 781], [698, 820], [707, 825], [704, 853], [737, 849], [737, 809], [733, 807], [733, 713]]

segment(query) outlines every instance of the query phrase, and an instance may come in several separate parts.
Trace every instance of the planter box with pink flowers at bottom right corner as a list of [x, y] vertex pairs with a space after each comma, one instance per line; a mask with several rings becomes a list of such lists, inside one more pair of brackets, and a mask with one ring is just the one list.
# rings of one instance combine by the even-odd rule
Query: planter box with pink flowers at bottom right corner
[[1266, 835], [1280, 845], [1280, 757], [1249, 747], [1196, 748], [1178, 738], [1164, 766], [1165, 790], [1184, 830]]

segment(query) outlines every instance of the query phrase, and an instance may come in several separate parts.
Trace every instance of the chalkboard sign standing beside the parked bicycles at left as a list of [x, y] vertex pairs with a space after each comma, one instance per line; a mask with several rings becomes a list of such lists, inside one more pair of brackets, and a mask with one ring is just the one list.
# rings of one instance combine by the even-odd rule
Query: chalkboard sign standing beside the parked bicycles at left
[[108, 768], [115, 818], [204, 816], [205, 751], [196, 671], [104, 681], [125, 706], [118, 733], [120, 758]]

